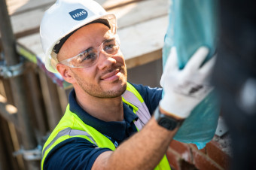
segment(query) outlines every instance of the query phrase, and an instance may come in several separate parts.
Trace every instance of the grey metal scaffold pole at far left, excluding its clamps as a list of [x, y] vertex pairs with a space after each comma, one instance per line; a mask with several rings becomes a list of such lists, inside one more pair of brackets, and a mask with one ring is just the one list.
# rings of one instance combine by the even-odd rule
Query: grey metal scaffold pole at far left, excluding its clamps
[[[5, 61], [8, 66], [17, 65], [20, 59], [15, 50], [15, 38], [11, 27], [11, 21], [7, 11], [5, 0], [0, 0], [0, 32], [2, 37], [2, 47], [5, 54]], [[11, 77], [11, 89], [14, 94], [14, 103], [18, 109], [18, 122], [24, 150], [32, 150], [36, 147], [35, 135], [33, 134], [32, 123], [29, 115], [32, 115], [29, 103], [26, 99], [26, 91], [23, 76]], [[27, 161], [28, 169], [39, 169], [38, 162]]]

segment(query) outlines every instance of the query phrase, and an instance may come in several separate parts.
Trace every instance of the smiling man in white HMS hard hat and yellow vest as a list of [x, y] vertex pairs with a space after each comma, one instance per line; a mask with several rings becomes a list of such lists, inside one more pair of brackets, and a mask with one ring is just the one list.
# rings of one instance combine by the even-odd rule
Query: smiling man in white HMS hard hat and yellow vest
[[164, 156], [170, 141], [210, 91], [204, 85], [213, 62], [200, 68], [208, 50], [200, 48], [182, 71], [171, 50], [161, 99], [160, 89], [126, 82], [115, 17], [96, 2], [57, 1], [45, 12], [40, 32], [46, 68], [74, 87], [44, 144], [41, 168], [170, 169]]

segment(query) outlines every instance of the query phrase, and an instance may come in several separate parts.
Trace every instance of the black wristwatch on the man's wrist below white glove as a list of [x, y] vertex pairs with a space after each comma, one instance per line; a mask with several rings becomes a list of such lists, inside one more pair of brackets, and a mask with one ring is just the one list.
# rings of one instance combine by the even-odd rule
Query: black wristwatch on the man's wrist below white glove
[[154, 118], [157, 120], [157, 123], [160, 126], [163, 126], [168, 130], [173, 130], [178, 126], [181, 126], [181, 124], [183, 123], [183, 120], [176, 120], [173, 117], [169, 117], [166, 116], [166, 114], [162, 114], [158, 107], [154, 111]]

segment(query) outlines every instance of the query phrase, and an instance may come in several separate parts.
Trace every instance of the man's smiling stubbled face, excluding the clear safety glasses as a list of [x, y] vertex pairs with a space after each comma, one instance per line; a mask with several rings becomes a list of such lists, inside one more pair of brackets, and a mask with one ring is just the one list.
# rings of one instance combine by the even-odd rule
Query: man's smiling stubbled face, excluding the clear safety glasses
[[[112, 33], [102, 23], [84, 26], [63, 44], [58, 59], [59, 61], [69, 59], [90, 47], [99, 47], [103, 41], [111, 37]], [[84, 90], [90, 96], [114, 98], [122, 95], [126, 90], [126, 65], [120, 51], [114, 56], [99, 52], [96, 64], [87, 68], [70, 68], [58, 64], [57, 69], [75, 89]]]

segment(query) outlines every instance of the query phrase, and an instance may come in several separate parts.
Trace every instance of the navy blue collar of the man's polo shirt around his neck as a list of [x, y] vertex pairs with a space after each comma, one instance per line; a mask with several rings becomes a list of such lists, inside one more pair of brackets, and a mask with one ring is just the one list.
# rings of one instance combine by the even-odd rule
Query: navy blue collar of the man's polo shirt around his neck
[[91, 116], [83, 108], [78, 105], [75, 100], [75, 90], [69, 94], [69, 109], [87, 125], [92, 126], [104, 135], [108, 135], [118, 141], [123, 141], [126, 138], [126, 124], [132, 123], [133, 120], [137, 120], [139, 117], [133, 113], [133, 110], [128, 105], [123, 103], [123, 121], [105, 122], [99, 120], [96, 117]]

